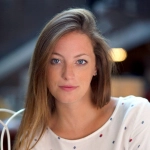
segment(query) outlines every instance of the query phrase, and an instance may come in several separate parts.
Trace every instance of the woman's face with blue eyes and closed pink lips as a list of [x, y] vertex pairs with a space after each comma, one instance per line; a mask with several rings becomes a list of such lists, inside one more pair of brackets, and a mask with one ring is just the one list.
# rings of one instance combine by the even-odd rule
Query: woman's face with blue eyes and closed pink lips
[[96, 73], [95, 55], [86, 34], [73, 31], [62, 36], [49, 59], [47, 86], [56, 102], [91, 100], [90, 83]]

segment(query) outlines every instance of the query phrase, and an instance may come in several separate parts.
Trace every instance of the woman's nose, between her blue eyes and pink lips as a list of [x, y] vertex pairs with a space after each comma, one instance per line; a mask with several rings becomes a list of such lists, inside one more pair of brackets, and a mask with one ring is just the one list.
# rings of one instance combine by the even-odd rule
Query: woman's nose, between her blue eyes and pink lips
[[70, 80], [74, 78], [74, 68], [71, 64], [65, 64], [62, 70], [62, 77], [65, 80]]

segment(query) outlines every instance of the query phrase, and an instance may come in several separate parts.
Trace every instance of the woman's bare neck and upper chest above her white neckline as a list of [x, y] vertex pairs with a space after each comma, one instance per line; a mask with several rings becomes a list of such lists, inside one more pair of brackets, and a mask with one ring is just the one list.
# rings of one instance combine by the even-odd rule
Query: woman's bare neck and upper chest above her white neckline
[[85, 137], [104, 125], [114, 111], [115, 105], [110, 101], [100, 109], [94, 106], [91, 100], [56, 104], [56, 112], [50, 122], [50, 128], [63, 138]]

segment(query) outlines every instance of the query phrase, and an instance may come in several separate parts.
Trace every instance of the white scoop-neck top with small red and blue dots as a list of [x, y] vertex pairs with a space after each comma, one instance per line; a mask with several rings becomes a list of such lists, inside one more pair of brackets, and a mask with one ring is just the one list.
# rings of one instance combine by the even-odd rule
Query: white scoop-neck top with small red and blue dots
[[47, 128], [33, 150], [150, 150], [150, 103], [134, 96], [117, 99], [110, 119], [94, 133], [67, 140]]

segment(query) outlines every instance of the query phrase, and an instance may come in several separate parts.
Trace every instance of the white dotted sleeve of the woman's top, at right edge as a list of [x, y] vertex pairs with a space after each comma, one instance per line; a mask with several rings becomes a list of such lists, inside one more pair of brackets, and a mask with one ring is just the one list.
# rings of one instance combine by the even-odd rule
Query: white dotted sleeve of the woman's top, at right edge
[[150, 103], [143, 99], [137, 107], [129, 150], [150, 150]]

